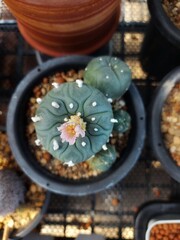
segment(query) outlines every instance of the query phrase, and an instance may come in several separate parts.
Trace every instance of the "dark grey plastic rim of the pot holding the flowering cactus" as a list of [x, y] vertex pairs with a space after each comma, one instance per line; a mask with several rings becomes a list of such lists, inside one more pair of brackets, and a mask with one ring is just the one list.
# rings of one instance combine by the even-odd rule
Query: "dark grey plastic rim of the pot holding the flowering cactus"
[[29, 90], [29, 88], [32, 88], [33, 82], [35, 83], [37, 81], [37, 78], [39, 79], [42, 78], [42, 76], [50, 75], [49, 71], [52, 71], [54, 67], [57, 68], [57, 66], [61, 66], [62, 68], [63, 66], [63, 68], [72, 69], [73, 67], [75, 68], [75, 66], [77, 65], [81, 65], [81, 68], [85, 68], [85, 66], [91, 59], [92, 57], [89, 56], [65, 56], [61, 58], [55, 58], [53, 60], [49, 60], [43, 63], [42, 65], [36, 67], [31, 72], [29, 72], [29, 74], [27, 74], [26, 77], [20, 82], [9, 104], [7, 114], [7, 133], [11, 149], [18, 164], [20, 165], [21, 169], [26, 173], [26, 175], [33, 179], [33, 181], [35, 181], [43, 188], [57, 194], [82, 196], [96, 193], [115, 185], [118, 181], [122, 180], [136, 164], [144, 146], [145, 110], [141, 96], [133, 83], [130, 86], [129, 92], [131, 92], [132, 95], [135, 95], [135, 98], [133, 98], [133, 104], [136, 106], [135, 121], [137, 121], [137, 136], [135, 136], [132, 151], [126, 154], [128, 155], [127, 159], [123, 162], [120, 168], [113, 169], [113, 172], [110, 172], [110, 174], [106, 175], [104, 178], [94, 177], [93, 180], [95, 181], [90, 180], [78, 183], [65, 182], [64, 180], [61, 182], [57, 182], [54, 178], [50, 176], [50, 174], [47, 174], [46, 177], [44, 177], [42, 171], [38, 171], [38, 169], [30, 165], [26, 161], [25, 156], [21, 151], [22, 146], [19, 147], [15, 145], [17, 140], [16, 138], [19, 134], [16, 132], [15, 113], [17, 109], [21, 108], [21, 94], [24, 92], [24, 90]]

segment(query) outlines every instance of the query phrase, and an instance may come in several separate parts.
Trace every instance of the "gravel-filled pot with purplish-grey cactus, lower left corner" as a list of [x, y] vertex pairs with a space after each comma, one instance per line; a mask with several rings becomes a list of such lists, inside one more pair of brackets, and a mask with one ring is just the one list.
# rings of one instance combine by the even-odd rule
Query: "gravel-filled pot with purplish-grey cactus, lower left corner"
[[20, 170], [6, 133], [0, 132], [0, 237], [20, 239], [41, 221], [50, 194]]

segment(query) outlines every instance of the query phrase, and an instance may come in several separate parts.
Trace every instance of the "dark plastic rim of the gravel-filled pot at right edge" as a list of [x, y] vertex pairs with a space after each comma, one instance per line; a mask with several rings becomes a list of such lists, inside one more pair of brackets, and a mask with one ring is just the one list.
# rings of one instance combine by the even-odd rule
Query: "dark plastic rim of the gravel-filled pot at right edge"
[[152, 98], [150, 107], [150, 144], [158, 160], [161, 161], [168, 174], [176, 181], [180, 182], [180, 167], [171, 158], [167, 150], [161, 132], [161, 111], [165, 100], [174, 85], [180, 82], [180, 67], [175, 68], [167, 74], [157, 87]]

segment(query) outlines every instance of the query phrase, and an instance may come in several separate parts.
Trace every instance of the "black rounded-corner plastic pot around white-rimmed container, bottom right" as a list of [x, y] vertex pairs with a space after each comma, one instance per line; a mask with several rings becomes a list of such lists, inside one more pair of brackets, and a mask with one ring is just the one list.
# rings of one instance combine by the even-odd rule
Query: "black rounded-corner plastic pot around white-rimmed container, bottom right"
[[152, 202], [144, 205], [135, 219], [135, 239], [145, 240], [148, 223], [158, 218], [179, 218], [180, 204], [176, 202]]

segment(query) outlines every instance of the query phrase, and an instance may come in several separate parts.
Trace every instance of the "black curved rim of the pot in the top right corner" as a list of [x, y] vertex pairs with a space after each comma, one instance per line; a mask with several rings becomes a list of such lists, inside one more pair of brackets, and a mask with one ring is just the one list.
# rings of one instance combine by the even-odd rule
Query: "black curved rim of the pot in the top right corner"
[[163, 9], [161, 0], [148, 0], [148, 7], [155, 26], [173, 45], [180, 48], [180, 29], [170, 20]]

